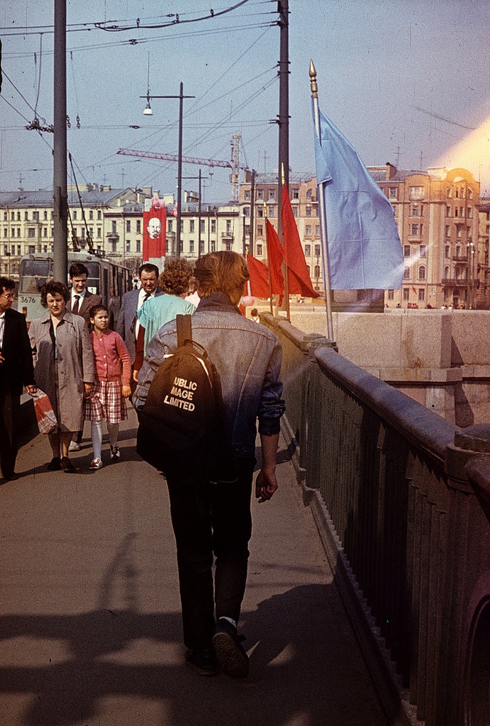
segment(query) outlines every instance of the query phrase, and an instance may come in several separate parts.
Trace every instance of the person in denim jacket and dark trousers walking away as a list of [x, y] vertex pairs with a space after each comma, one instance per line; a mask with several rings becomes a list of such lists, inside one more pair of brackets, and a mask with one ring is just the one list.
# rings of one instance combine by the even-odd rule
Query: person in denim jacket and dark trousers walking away
[[[213, 482], [203, 462], [182, 461], [167, 476], [176, 538], [185, 661], [201, 675], [219, 668], [231, 677], [248, 675], [248, 656], [237, 632], [252, 531], [250, 497], [256, 464], [256, 421], [262, 466], [256, 497], [267, 502], [275, 476], [279, 419], [285, 411], [277, 336], [240, 314], [249, 279], [245, 259], [234, 252], [209, 253], [195, 264], [200, 303], [192, 316], [192, 338], [204, 346], [221, 378], [226, 432], [237, 480]], [[164, 356], [176, 348], [176, 324], [152, 338], [139, 372], [134, 404], [141, 409]], [[213, 559], [216, 570], [213, 584]], [[216, 608], [216, 619], [215, 619]]]

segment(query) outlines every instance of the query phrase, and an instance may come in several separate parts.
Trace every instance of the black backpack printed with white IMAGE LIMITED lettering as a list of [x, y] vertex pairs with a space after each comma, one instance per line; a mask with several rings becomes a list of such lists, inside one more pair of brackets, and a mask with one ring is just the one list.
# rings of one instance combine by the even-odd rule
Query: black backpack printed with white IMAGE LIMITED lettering
[[221, 380], [192, 340], [192, 317], [177, 315], [177, 348], [165, 357], [138, 412], [136, 451], [164, 474], [236, 481]]

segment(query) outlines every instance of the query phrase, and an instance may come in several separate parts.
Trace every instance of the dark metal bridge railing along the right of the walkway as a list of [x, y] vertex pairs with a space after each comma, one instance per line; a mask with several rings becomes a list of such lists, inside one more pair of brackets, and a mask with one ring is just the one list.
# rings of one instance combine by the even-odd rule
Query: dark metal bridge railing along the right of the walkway
[[348, 611], [365, 620], [354, 627], [373, 671], [381, 637], [405, 713], [412, 704], [428, 726], [488, 726], [490, 425], [460, 430], [330, 341], [268, 314], [261, 322], [282, 342], [285, 433], [321, 502], [340, 592], [359, 605]]

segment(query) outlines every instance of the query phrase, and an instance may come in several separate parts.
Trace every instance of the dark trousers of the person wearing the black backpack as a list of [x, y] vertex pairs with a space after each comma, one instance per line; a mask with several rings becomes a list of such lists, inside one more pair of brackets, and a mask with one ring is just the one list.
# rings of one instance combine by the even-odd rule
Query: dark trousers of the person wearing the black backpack
[[[184, 643], [209, 648], [215, 619], [238, 621], [245, 593], [254, 459], [237, 459], [238, 481], [167, 476], [177, 546]], [[216, 558], [213, 596], [213, 555]]]

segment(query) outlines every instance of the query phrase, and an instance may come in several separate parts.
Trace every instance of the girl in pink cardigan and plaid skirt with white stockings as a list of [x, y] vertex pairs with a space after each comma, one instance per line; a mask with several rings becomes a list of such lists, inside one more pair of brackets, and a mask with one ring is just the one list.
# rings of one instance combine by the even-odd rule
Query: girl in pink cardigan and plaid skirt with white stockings
[[102, 468], [103, 418], [107, 420], [110, 459], [118, 461], [121, 457], [118, 446], [119, 423], [128, 418], [124, 399], [131, 395], [131, 388], [129, 388], [131, 360], [121, 335], [107, 328], [109, 312], [105, 306], [94, 305], [91, 307], [90, 322], [94, 327], [90, 333], [90, 340], [94, 350], [96, 380], [90, 398], [85, 399], [83, 415], [86, 420], [91, 421], [94, 459], [90, 468], [97, 470]]

